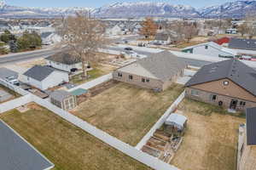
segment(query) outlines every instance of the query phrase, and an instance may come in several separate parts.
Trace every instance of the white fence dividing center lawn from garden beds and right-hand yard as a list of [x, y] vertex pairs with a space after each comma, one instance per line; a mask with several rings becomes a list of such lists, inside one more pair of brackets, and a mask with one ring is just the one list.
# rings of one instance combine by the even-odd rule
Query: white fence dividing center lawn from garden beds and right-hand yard
[[180, 94], [180, 96], [172, 103], [172, 105], [165, 112], [165, 114], [160, 117], [158, 122], [154, 124], [154, 126], [148, 131], [148, 133], [143, 137], [143, 139], [137, 144], [136, 146], [137, 150], [141, 150], [143, 148], [143, 145], [146, 144], [148, 139], [150, 139], [153, 136], [154, 132], [164, 124], [168, 116], [170, 116], [170, 114], [173, 111], [175, 111], [175, 109], [177, 108], [177, 105], [180, 104], [180, 102], [184, 99], [184, 97], [185, 97], [185, 91], [183, 91], [183, 93]]

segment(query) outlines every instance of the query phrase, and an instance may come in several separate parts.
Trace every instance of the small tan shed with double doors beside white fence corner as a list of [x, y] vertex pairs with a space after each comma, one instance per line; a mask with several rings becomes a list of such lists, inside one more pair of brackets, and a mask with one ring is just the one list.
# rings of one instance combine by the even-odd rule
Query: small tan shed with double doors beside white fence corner
[[50, 103], [65, 111], [72, 110], [77, 106], [76, 97], [65, 90], [55, 90], [49, 95], [49, 98]]

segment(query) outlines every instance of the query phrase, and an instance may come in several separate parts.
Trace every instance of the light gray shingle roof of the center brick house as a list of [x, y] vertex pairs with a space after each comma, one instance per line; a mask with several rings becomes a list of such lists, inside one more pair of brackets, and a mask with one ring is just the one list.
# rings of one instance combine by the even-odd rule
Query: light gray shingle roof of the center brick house
[[177, 56], [169, 51], [151, 54], [147, 58], [138, 60], [137, 63], [162, 82], [170, 80], [187, 66], [186, 63], [177, 59]]

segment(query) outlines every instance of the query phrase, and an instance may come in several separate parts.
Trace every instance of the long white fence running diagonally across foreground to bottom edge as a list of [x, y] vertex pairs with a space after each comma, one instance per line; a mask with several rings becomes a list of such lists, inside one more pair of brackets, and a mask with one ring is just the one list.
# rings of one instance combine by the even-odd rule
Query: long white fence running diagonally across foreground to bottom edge
[[154, 156], [149, 156], [143, 151], [137, 150], [129, 144], [125, 144], [124, 142], [114, 138], [108, 133], [105, 133], [102, 130], [90, 125], [90, 123], [84, 122], [83, 120], [79, 119], [79, 117], [73, 116], [69, 112], [63, 111], [55, 105], [50, 104], [48, 101], [38, 98], [38, 96], [32, 95], [32, 100], [38, 105], [44, 106], [49, 111], [54, 112], [56, 115], [61, 116], [63, 119], [67, 120], [67, 122], [73, 123], [73, 125], [80, 127], [87, 133], [95, 136], [97, 139], [102, 140], [106, 144], [109, 144], [113, 148], [123, 152], [125, 155], [131, 156], [133, 159], [142, 162], [148, 167], [152, 167], [157, 170], [178, 170], [177, 167], [173, 167], [172, 165], [167, 164], [164, 161], [160, 161]]

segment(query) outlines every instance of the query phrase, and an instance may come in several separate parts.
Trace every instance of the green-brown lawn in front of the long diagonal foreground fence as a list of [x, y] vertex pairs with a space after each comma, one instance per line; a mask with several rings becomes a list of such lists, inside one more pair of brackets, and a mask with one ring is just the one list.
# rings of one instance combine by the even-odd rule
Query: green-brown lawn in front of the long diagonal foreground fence
[[142, 163], [35, 104], [0, 116], [55, 164], [53, 170], [149, 170]]

